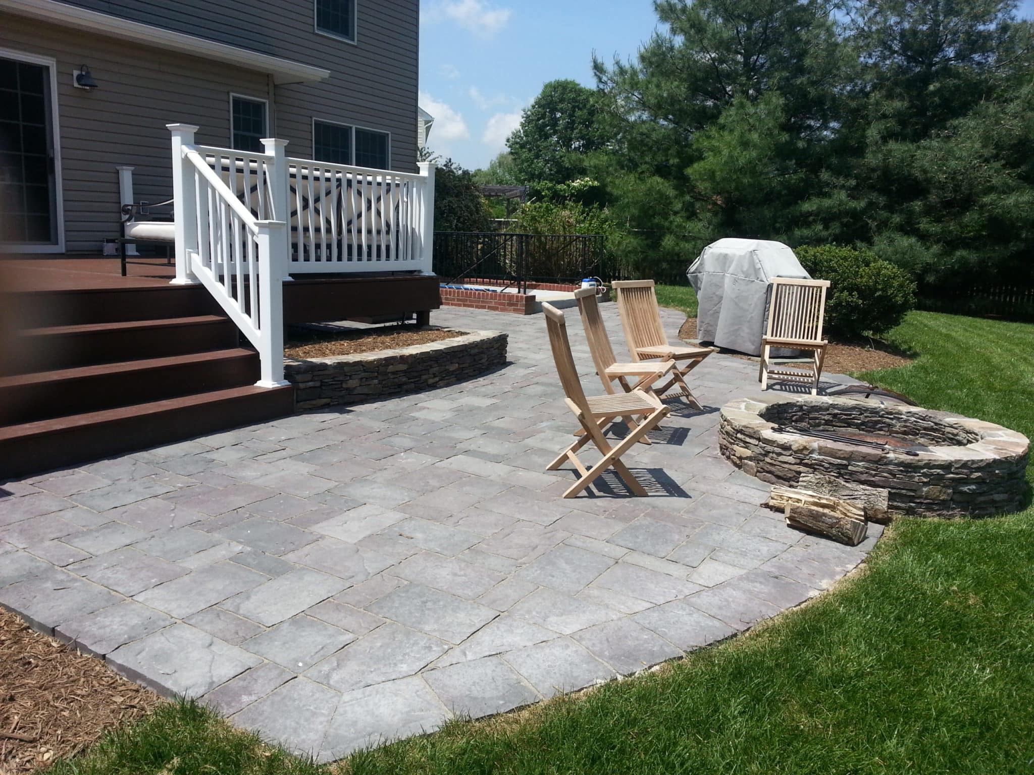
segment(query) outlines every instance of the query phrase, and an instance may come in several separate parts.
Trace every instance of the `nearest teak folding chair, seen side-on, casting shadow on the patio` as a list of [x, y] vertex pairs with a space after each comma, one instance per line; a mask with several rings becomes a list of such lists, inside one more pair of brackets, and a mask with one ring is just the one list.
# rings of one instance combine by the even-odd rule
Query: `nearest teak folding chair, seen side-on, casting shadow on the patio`
[[[569, 460], [578, 469], [578, 473], [581, 476], [564, 493], [565, 498], [573, 498], [578, 495], [578, 493], [591, 485], [608, 468], [613, 468], [634, 494], [648, 495], [643, 486], [636, 481], [636, 477], [632, 475], [632, 472], [621, 462], [621, 456], [634, 446], [640, 438], [653, 430], [658, 423], [668, 415], [671, 409], [662, 404], [657, 396], [642, 390], [586, 397], [581, 382], [578, 380], [578, 370], [575, 367], [575, 360], [571, 354], [571, 342], [568, 340], [568, 328], [564, 319], [564, 313], [549, 304], [543, 304], [542, 311], [546, 316], [546, 329], [549, 331], [549, 346], [553, 351], [556, 373], [559, 375], [560, 384], [564, 386], [565, 401], [571, 411], [575, 413], [575, 416], [578, 417], [578, 422], [585, 431], [585, 435], [580, 436], [577, 441], [560, 453], [549, 464], [547, 470], [556, 470]], [[625, 438], [617, 442], [616, 446], [611, 446], [610, 442], [603, 435], [603, 430], [615, 417], [630, 415], [642, 419], [636, 428], [632, 429]], [[597, 448], [603, 455], [603, 459], [591, 468], [586, 468], [575, 453], [589, 441], [596, 444]]]

